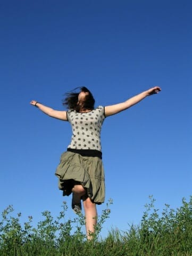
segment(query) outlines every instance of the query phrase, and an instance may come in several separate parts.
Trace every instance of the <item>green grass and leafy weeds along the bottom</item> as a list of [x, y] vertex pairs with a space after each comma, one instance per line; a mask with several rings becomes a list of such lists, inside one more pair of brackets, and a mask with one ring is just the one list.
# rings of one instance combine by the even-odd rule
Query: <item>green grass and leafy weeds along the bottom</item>
[[111, 229], [102, 239], [99, 234], [110, 217], [108, 206], [112, 202], [107, 203], [91, 241], [87, 241], [82, 231], [83, 215], [65, 221], [66, 203], [56, 219], [51, 212], [43, 212], [43, 220], [36, 228], [32, 227], [32, 217], [20, 223], [21, 213], [13, 217], [13, 208], [9, 206], [2, 212], [0, 221], [0, 255], [192, 256], [192, 196], [189, 202], [183, 198], [181, 207], [176, 210], [165, 204], [161, 213], [155, 209], [154, 198], [149, 198], [139, 226], [131, 225], [126, 231]]

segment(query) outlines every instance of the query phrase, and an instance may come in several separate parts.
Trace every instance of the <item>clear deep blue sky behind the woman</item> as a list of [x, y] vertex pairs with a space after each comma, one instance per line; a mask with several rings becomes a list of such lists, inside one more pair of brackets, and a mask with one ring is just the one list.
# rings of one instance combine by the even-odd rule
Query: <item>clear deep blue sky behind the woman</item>
[[75, 217], [54, 175], [71, 127], [29, 102], [63, 110], [63, 94], [77, 86], [93, 92], [96, 106], [162, 88], [104, 121], [106, 201], [114, 204], [103, 234], [137, 225], [149, 195], [160, 212], [189, 198], [191, 9], [191, 1], [169, 0], [1, 3], [1, 211], [12, 204], [36, 223], [66, 201]]

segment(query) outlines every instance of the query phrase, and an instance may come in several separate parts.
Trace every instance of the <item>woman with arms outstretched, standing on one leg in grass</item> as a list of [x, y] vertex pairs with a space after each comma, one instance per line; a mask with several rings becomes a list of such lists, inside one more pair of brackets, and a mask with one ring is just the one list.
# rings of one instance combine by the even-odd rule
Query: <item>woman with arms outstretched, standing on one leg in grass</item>
[[36, 106], [48, 116], [70, 122], [72, 138], [68, 149], [61, 156], [56, 170], [59, 188], [63, 195], [72, 193], [72, 209], [81, 211], [81, 199], [86, 217], [87, 238], [95, 231], [97, 223], [96, 204], [104, 202], [105, 184], [101, 149], [101, 127], [105, 117], [117, 114], [137, 104], [147, 96], [156, 94], [161, 88], [155, 86], [147, 91], [112, 106], [94, 108], [95, 100], [86, 87], [78, 93], [67, 93], [63, 105], [68, 111], [58, 111], [32, 100]]

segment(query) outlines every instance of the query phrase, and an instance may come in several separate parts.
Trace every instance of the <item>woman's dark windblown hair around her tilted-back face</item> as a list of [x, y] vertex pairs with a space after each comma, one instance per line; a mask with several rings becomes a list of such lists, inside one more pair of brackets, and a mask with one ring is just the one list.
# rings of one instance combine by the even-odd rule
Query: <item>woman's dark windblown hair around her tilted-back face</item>
[[[85, 101], [83, 102], [83, 109], [94, 109], [95, 99], [93, 94], [86, 88], [86, 87], [77, 87], [74, 90], [80, 89], [80, 92], [88, 92], [89, 94], [86, 95]], [[72, 91], [74, 91], [72, 90]], [[68, 109], [79, 111], [80, 106], [78, 103], [78, 96], [80, 92], [67, 92], [65, 93], [66, 97], [63, 99], [63, 106], [67, 106]]]

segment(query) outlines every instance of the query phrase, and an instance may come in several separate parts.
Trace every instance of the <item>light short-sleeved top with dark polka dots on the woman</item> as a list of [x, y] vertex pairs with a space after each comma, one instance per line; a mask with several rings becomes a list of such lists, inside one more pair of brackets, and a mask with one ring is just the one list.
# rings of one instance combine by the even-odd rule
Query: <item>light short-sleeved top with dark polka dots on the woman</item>
[[67, 118], [72, 126], [72, 138], [68, 148], [95, 149], [101, 151], [101, 127], [105, 108], [99, 106], [87, 113], [68, 110]]

